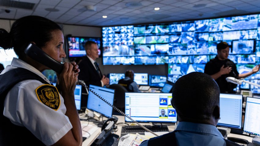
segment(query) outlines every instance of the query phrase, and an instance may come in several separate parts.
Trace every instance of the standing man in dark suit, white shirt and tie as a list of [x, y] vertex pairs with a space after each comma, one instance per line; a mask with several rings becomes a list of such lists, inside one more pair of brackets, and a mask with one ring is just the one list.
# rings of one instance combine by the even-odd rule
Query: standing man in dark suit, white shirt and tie
[[87, 41], [85, 43], [85, 51], [87, 57], [84, 57], [79, 63], [79, 76], [80, 80], [83, 80], [87, 86], [106, 86], [109, 84], [109, 78], [102, 75], [100, 68], [96, 62], [98, 59], [98, 45], [96, 42]]

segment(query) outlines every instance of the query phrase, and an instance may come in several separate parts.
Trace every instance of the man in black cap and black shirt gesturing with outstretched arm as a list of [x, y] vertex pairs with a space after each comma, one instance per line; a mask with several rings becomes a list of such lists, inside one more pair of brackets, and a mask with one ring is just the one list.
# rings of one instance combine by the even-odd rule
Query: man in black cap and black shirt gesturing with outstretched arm
[[227, 82], [227, 77], [246, 78], [259, 71], [259, 65], [257, 65], [252, 71], [239, 74], [236, 64], [228, 59], [229, 47], [227, 42], [218, 43], [217, 56], [205, 65], [204, 70], [204, 73], [210, 75], [217, 82], [220, 93], [236, 93], [233, 89], [236, 88], [237, 84]]

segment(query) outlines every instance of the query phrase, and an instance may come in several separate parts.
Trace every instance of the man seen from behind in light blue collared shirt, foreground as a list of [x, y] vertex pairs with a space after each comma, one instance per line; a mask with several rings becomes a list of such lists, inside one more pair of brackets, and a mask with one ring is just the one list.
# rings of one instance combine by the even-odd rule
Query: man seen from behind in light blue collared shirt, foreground
[[207, 74], [191, 72], [179, 78], [173, 88], [171, 104], [179, 124], [173, 132], [143, 141], [139, 146], [162, 145], [239, 145], [223, 138], [216, 125], [220, 119], [220, 91]]

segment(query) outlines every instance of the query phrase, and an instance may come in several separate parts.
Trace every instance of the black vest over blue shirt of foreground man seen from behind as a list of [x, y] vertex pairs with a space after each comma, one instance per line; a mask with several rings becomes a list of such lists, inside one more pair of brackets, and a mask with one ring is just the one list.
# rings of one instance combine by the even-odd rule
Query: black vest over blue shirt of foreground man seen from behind
[[[227, 146], [240, 146], [239, 144], [236, 144], [232, 141], [229, 141], [227, 139], [224, 139], [226, 141]], [[158, 137], [153, 137], [148, 140], [148, 146], [158, 146], [158, 145], [171, 145], [171, 146], [177, 146], [177, 141], [175, 137], [175, 133], [170, 132]]]

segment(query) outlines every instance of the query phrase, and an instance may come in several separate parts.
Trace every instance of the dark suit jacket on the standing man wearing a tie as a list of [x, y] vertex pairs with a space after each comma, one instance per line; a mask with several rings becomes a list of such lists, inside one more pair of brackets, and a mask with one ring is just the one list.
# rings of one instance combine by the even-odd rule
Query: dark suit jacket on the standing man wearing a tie
[[90, 84], [101, 86], [102, 73], [99, 69], [100, 75], [98, 74], [88, 57], [85, 57], [78, 65], [80, 69], [78, 79], [83, 80], [87, 86]]

